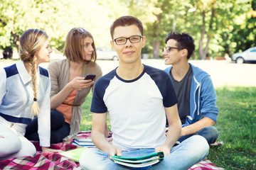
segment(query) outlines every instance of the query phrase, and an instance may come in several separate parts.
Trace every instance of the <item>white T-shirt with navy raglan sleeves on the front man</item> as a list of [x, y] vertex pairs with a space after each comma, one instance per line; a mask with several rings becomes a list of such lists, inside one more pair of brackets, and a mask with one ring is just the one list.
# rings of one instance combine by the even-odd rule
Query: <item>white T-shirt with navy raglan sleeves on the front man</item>
[[169, 75], [144, 65], [144, 72], [131, 81], [118, 77], [115, 70], [100, 78], [95, 84], [91, 111], [108, 111], [112, 145], [123, 150], [155, 148], [166, 140], [164, 107], [177, 102]]

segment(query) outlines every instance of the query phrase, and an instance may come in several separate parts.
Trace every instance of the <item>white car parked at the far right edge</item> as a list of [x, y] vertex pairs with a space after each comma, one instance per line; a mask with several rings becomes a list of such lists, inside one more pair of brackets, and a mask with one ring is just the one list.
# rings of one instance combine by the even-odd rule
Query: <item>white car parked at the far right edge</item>
[[251, 47], [244, 52], [233, 54], [232, 60], [238, 64], [242, 64], [244, 62], [256, 62], [256, 47]]

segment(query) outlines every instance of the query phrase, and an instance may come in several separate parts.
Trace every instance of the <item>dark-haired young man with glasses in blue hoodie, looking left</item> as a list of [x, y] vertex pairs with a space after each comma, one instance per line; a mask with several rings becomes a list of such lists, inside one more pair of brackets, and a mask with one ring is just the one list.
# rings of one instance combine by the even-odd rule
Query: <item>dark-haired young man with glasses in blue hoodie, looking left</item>
[[201, 135], [210, 145], [218, 138], [218, 130], [213, 126], [218, 116], [217, 97], [210, 75], [188, 63], [195, 50], [194, 40], [190, 35], [171, 32], [165, 42], [164, 64], [172, 64], [165, 71], [174, 84], [178, 97], [178, 115], [182, 123], [178, 141]]

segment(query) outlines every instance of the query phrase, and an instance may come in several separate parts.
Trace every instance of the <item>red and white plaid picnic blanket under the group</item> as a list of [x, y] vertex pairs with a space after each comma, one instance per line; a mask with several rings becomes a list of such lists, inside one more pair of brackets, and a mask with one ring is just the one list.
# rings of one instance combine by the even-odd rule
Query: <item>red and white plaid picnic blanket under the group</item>
[[[78, 137], [87, 138], [90, 137], [90, 132], [79, 132]], [[61, 149], [63, 151], [68, 151], [70, 149], [75, 149], [78, 146], [72, 145], [73, 140], [68, 142], [61, 142], [55, 145], [50, 145], [52, 149]], [[50, 170], [64, 170], [64, 169], [81, 169], [77, 162], [72, 159], [63, 157], [56, 153], [44, 153], [41, 154], [41, 147], [38, 142], [33, 142], [35, 145], [37, 153], [35, 157], [16, 157], [11, 159], [6, 159], [0, 161], [0, 169], [50, 169]], [[212, 162], [207, 159], [199, 162], [192, 166], [189, 170], [223, 170], [223, 168], [215, 166]]]

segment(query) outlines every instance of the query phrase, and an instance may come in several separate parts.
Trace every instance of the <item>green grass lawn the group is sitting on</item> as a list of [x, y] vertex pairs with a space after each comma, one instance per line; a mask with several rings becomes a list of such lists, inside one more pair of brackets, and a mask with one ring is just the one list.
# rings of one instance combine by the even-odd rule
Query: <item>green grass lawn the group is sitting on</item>
[[[223, 87], [216, 92], [218, 141], [224, 145], [211, 147], [207, 159], [225, 169], [256, 169], [256, 87]], [[90, 93], [82, 104], [80, 130], [92, 128], [91, 100]]]

